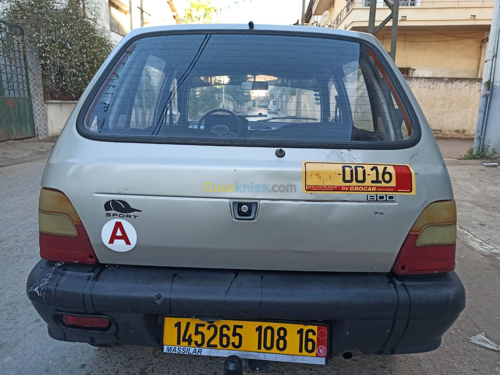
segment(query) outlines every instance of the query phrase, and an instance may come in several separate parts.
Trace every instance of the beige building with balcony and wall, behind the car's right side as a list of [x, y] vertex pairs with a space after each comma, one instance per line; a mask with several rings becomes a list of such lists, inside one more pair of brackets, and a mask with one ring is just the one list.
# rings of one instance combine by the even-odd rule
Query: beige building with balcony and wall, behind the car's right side
[[[436, 134], [473, 136], [493, 1], [400, 0], [399, 4], [396, 65]], [[378, 0], [375, 25], [389, 13]], [[368, 14], [369, 0], [310, 0], [305, 22], [366, 32]], [[387, 50], [391, 22], [375, 35]]]

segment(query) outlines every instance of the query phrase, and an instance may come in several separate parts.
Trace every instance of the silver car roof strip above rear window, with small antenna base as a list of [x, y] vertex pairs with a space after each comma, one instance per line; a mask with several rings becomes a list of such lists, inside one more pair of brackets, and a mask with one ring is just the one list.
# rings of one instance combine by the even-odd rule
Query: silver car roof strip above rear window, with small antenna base
[[268, 25], [255, 23], [253, 29], [248, 27], [246, 23], [197, 23], [197, 24], [175, 24], [163, 26], [147, 26], [137, 27], [132, 29], [123, 38], [123, 42], [137, 35], [148, 34], [161, 31], [227, 31], [227, 30], [247, 30], [249, 33], [253, 31], [284, 31], [284, 32], [300, 32], [310, 35], [337, 35], [344, 37], [354, 37], [366, 40], [378, 45], [378, 40], [371, 34], [359, 31], [340, 30], [336, 28], [326, 28], [317, 26], [297, 26], [297, 25]]

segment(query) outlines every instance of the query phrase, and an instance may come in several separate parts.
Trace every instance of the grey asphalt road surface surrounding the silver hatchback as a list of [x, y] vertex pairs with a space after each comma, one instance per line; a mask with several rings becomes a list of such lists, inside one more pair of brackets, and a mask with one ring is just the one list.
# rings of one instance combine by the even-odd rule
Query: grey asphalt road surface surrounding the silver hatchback
[[[353, 352], [351, 360], [337, 356], [327, 366], [271, 363], [270, 374], [500, 374], [500, 352], [468, 341], [485, 332], [500, 343], [500, 168], [484, 168], [479, 161], [446, 163], [458, 206], [456, 269], [467, 307], [442, 346], [417, 355]], [[219, 358], [133, 346], [97, 349], [48, 337], [25, 294], [26, 277], [38, 261], [37, 197], [44, 164], [45, 159], [0, 168], [0, 375], [222, 374]]]

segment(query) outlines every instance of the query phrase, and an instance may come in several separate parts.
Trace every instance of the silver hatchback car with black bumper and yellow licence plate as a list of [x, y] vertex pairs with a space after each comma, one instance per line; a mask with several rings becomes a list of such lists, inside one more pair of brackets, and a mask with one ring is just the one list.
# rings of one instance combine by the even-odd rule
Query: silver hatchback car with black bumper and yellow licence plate
[[132, 30], [41, 186], [27, 296], [57, 340], [325, 364], [434, 350], [465, 305], [446, 166], [368, 34]]

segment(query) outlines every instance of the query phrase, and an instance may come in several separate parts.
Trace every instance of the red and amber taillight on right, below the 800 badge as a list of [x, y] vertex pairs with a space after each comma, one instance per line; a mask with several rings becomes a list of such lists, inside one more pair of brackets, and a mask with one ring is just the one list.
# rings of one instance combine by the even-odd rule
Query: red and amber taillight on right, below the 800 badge
[[454, 199], [429, 204], [404, 240], [392, 272], [430, 274], [455, 269], [456, 205]]

